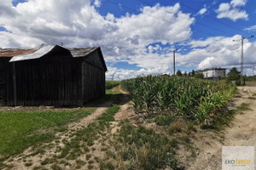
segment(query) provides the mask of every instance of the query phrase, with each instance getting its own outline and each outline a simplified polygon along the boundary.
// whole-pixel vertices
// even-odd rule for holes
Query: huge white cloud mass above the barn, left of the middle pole
[[[170,73],[171,49],[160,46],[188,40],[195,20],[181,11],[179,3],[145,6],[138,14],[119,18],[99,14],[96,8],[100,5],[100,0],[28,0],[14,7],[8,0],[4,7],[9,11],[0,12],[0,25],[12,33],[0,31],[0,46],[35,48],[41,43],[61,42],[67,47],[101,46],[105,60],[112,65],[122,61],[142,68],[130,71],[109,67],[107,77],[113,72],[119,79]]]

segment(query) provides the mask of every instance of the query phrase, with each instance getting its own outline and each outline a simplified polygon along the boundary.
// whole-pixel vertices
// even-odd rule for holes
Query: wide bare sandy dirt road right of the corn
[[[200,139],[194,139],[199,149],[198,156],[189,162],[188,169],[221,169],[222,146],[254,146],[256,148],[256,87],[239,87],[239,96],[235,106],[246,103],[252,111],[236,114],[230,127],[221,133],[206,132]]]

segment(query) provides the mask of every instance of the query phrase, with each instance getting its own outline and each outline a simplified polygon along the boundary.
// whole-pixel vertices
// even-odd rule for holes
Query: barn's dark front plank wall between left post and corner
[[[82,105],[81,59],[16,62],[17,105]]]

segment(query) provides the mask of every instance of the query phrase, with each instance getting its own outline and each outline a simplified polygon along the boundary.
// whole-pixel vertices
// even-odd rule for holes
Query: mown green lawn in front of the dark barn
[[[88,116],[94,108],[77,111],[0,112],[0,155],[3,159],[19,154],[34,144],[54,139],[54,128]],[[57,128],[58,129],[58,128]]]

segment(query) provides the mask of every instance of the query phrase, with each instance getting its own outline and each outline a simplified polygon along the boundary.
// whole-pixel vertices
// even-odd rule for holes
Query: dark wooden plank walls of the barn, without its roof
[[[5,76],[0,74],[6,79],[3,105],[15,105],[13,62],[6,58],[5,65]],[[45,56],[17,61],[15,72],[17,105],[83,105],[105,94],[105,71],[86,57]],[[4,94],[1,89],[0,93]]]

